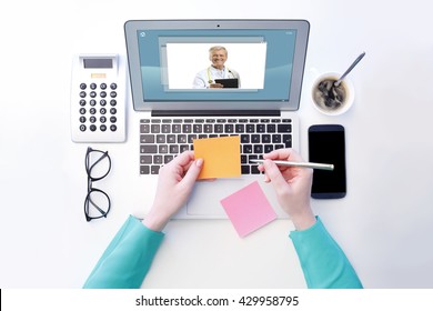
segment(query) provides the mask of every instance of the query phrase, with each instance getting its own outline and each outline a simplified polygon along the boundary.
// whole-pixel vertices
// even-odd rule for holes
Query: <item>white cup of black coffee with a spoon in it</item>
[[[333,83],[341,74],[328,72],[315,79],[311,89],[314,107],[326,116],[339,116],[346,112],[355,99],[354,87],[350,79],[344,78],[339,87]]]

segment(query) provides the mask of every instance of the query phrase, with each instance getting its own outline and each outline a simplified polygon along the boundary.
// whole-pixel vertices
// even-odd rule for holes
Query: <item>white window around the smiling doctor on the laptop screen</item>
[[[177,40],[179,41],[179,38]],[[162,69],[165,71],[163,84],[167,91],[198,89],[194,79],[212,81],[219,79],[216,82],[221,83],[236,80],[236,84],[233,87],[225,89],[204,88],[208,91],[260,90],[264,88],[266,42],[263,42],[263,38],[256,38],[254,41],[258,42],[212,40],[215,39],[205,38],[200,40],[207,42],[170,42],[170,39],[167,40],[168,42],[161,47],[161,54],[164,56],[161,58]],[[249,38],[249,41],[251,41],[251,38]],[[214,77],[213,71],[211,71],[210,49],[212,47],[223,47],[228,52],[224,62],[225,69],[221,77]]]

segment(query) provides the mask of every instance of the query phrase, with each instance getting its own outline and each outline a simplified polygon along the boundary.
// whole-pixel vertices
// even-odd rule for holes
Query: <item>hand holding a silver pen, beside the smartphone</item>
[[[279,149],[263,154],[264,160],[302,162],[293,149]],[[299,167],[278,167],[272,161],[259,165],[265,173],[265,182],[272,182],[281,208],[290,215],[296,230],[304,230],[315,223],[310,207],[313,170]]]

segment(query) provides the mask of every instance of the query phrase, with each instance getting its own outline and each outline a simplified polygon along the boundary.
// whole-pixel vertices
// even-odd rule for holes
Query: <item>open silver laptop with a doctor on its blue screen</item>
[[[142,178],[157,181],[159,168],[192,149],[194,139],[241,137],[242,175],[197,182],[175,219],[225,219],[220,201],[254,181],[276,215],[288,218],[249,160],[279,148],[299,150],[309,32],[305,20],[125,22]],[[215,89],[216,79],[239,79],[239,86]]]

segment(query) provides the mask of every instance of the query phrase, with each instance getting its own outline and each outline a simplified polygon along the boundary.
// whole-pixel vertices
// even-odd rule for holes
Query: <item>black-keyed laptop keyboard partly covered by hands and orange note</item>
[[[150,118],[140,120],[140,174],[158,174],[193,140],[239,136],[242,174],[259,174],[252,159],[292,147],[292,120],[283,118]]]

